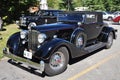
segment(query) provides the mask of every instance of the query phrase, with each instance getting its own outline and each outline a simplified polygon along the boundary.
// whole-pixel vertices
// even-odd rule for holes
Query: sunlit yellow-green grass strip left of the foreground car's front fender
[[[20,31],[16,24],[10,24],[10,25],[4,26],[3,28],[4,30],[0,31],[0,34],[1,34],[0,36],[3,38],[2,40],[0,40],[0,59],[3,58],[2,50],[4,47],[6,47],[6,42],[10,37],[10,35]]]

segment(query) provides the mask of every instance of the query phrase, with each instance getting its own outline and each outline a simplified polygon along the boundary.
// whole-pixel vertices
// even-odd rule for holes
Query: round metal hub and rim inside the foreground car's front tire
[[[50,67],[54,70],[61,69],[64,65],[65,57],[62,52],[56,52],[50,60]]]

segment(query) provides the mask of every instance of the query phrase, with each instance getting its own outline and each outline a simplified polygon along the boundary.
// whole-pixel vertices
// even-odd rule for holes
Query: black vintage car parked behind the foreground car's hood
[[[61,10],[39,10],[29,15],[22,14],[17,24],[22,29],[28,29],[41,24],[50,24],[57,22],[57,14],[62,12]]]

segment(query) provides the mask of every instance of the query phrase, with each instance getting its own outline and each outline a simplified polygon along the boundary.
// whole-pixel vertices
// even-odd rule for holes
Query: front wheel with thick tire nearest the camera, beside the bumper
[[[54,76],[64,72],[69,61],[69,54],[66,47],[61,47],[54,51],[50,56],[50,60],[45,64],[45,74]]]

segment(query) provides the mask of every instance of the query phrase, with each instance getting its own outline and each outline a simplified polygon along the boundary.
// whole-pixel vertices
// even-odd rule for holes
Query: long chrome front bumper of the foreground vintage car
[[[22,58],[22,57],[19,57],[19,56],[16,56],[12,53],[10,53],[7,48],[4,48],[3,49],[3,53],[6,57],[9,57],[17,62],[21,62],[23,64],[26,64],[27,66],[29,67],[32,67],[32,68],[35,68],[35,69],[38,69],[41,71],[41,73],[44,71],[44,68],[45,68],[45,63],[43,60],[40,61],[40,63],[36,63],[36,62],[33,62],[33,61],[30,61],[29,59],[25,59],[25,58]]]

